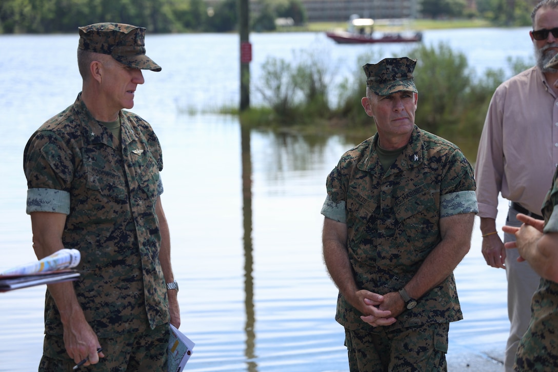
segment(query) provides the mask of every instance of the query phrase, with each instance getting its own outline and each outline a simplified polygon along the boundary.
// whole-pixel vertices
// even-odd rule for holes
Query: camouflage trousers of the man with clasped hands
[[[345,328],[350,372],[447,371],[449,323],[386,332]]]

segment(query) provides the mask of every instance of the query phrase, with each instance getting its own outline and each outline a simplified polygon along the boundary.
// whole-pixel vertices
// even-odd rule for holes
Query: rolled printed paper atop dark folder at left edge
[[[0,292],[76,280],[81,255],[76,249],[61,249],[39,261],[16,266],[0,273]]]

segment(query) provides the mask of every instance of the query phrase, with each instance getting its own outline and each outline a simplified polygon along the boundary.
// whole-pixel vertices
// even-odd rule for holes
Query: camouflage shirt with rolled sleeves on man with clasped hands
[[[415,126],[408,146],[384,172],[377,141],[376,134],[341,157],[328,176],[322,213],[347,223],[357,287],[385,294],[403,288],[440,242],[440,218],[476,213],[477,203],[472,166],[455,145]],[[336,320],[348,330],[375,332],[361,315],[339,293]],[[391,332],[462,318],[452,274],[381,328]],[[445,341],[447,348],[447,336]],[[406,347],[411,350],[413,341]]]

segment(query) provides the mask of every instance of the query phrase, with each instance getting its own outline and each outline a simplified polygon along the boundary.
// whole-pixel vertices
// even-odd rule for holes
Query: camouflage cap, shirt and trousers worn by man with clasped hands
[[[416,93],[414,66],[415,61],[408,58],[367,64],[363,68],[368,89],[383,97]],[[398,291],[411,282],[442,241],[440,220],[477,212],[475,182],[472,166],[458,147],[416,125],[408,144],[392,154],[391,165],[378,154],[379,136],[376,133],[345,152],[329,174],[321,211],[326,217],[324,237],[330,226],[346,230],[343,249],[356,289],[400,296]],[[338,224],[331,225],[330,220]],[[473,218],[468,223],[465,231],[470,240]],[[343,261],[326,245],[324,239],[326,264],[328,256],[330,262]],[[463,245],[468,250],[469,243]],[[330,265],[331,273],[335,270]],[[332,278],[336,281],[333,273]],[[336,284],[340,292],[335,318],[346,330],[351,371],[446,369],[448,323],[463,318],[453,274],[422,294],[416,306],[398,314],[395,322],[379,327],[363,321],[361,316],[367,314],[349,303],[341,293],[342,283]],[[432,356],[436,354],[432,349],[438,356]]]

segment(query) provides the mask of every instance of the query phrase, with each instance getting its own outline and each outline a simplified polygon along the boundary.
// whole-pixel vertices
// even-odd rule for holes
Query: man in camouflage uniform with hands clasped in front
[[[477,212],[473,167],[415,124],[415,65],[363,66],[377,133],[326,180],[323,256],[351,372],[445,371],[449,323],[463,318],[453,270]]]

